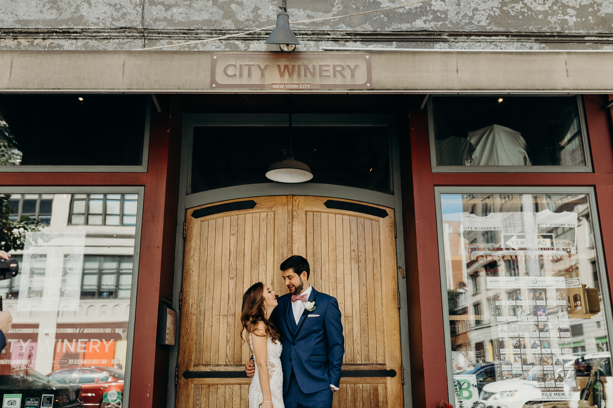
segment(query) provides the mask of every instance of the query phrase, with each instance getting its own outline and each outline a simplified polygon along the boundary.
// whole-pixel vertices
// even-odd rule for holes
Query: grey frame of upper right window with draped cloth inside
[[[428,110],[428,137],[430,140],[430,165],[432,173],[592,173],[592,155],[589,137],[587,131],[587,119],[585,116],[584,100],[581,94],[574,94],[577,101],[577,108],[579,110],[579,126],[581,127],[581,140],[583,146],[583,154],[585,159],[585,165],[583,166],[558,166],[558,165],[536,165],[536,166],[446,166],[436,164],[436,145],[434,134],[434,111],[433,111],[433,97],[496,97],[499,94],[440,94],[433,95],[428,98],[427,110]],[[560,97],[563,95],[550,95],[550,94],[500,94],[504,97]]]

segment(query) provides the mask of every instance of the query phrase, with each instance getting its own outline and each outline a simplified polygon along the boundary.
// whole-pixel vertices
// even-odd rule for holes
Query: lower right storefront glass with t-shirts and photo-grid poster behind
[[[590,193],[470,190],[438,203],[454,406],[577,406],[593,372],[611,379]]]

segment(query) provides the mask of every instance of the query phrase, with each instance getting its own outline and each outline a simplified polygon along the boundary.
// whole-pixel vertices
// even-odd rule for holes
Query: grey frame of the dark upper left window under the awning
[[[142,162],[139,165],[0,165],[0,172],[21,173],[21,172],[84,172],[84,173],[107,173],[107,172],[126,172],[126,173],[146,173],[149,161],[149,142],[151,135],[151,96],[147,98],[145,107],[145,137],[143,139]]]

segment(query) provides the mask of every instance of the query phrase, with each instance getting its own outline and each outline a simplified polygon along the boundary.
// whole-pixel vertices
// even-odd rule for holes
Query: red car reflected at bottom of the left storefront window
[[[81,385],[83,407],[110,408],[117,404],[102,403],[104,393],[121,391],[123,400],[123,371],[113,367],[87,366],[60,368],[47,374],[60,383],[78,383]]]

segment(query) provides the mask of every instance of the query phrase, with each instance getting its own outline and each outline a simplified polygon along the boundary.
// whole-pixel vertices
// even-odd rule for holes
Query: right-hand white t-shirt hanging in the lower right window
[[[540,247],[576,248],[577,213],[554,213],[549,209],[536,213],[536,238]]]

